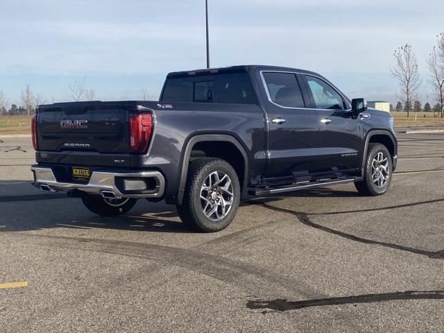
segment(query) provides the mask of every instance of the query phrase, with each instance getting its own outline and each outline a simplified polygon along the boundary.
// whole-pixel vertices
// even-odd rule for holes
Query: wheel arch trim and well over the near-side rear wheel
[[[191,160],[191,152],[193,152],[193,148],[204,148],[205,144],[207,146],[211,146],[214,144],[214,147],[220,146],[221,144],[228,144],[232,146],[232,149],[235,149],[239,154],[239,158],[241,158],[241,163],[237,165],[232,165],[232,167],[237,171],[239,182],[241,186],[241,198],[245,196],[248,182],[248,155],[244,146],[241,145],[238,139],[233,137],[232,135],[225,134],[200,134],[194,135],[191,137],[186,145],[185,153],[182,157],[181,169],[180,169],[180,180],[179,180],[179,189],[178,189],[178,205],[182,204],[183,196],[185,194],[185,185],[187,183],[187,173],[189,168],[189,161]],[[205,149],[205,148],[204,148]],[[205,151],[204,153],[207,153]],[[223,154],[214,153],[208,155],[208,157],[221,157]],[[236,157],[233,157],[236,158]],[[230,160],[228,160],[230,162]],[[240,172],[239,172],[240,171]],[[240,174],[239,174],[240,173]]]

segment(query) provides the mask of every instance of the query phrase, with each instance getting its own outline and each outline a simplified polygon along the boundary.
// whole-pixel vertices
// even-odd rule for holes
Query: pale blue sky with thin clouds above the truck
[[[441,0],[209,0],[211,66],[311,69],[345,94],[394,102],[393,51],[408,42],[420,63],[444,32]],[[0,0],[0,89],[19,102],[31,85],[69,99],[85,77],[97,99],[157,99],[169,71],[205,67],[204,0]]]

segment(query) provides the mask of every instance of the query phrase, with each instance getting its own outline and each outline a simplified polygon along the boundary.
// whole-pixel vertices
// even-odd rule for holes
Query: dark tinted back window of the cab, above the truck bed
[[[256,104],[247,73],[167,78],[161,101]]]

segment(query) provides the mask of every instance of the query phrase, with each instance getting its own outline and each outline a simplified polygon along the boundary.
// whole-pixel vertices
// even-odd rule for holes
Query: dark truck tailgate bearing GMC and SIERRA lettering
[[[56,103],[37,112],[40,151],[128,153],[128,114],[118,103]]]

